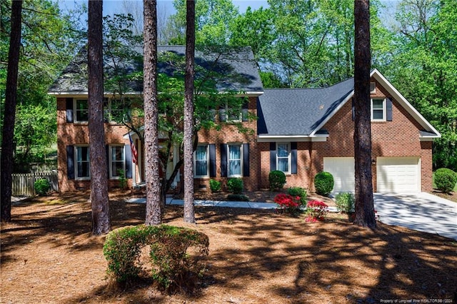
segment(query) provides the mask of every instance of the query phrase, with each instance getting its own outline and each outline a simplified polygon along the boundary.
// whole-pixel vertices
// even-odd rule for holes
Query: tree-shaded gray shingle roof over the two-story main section
[[[131,51],[138,54],[141,59],[142,46],[132,46]],[[159,46],[159,53],[170,51],[179,56],[184,56],[185,46]],[[256,61],[250,47],[230,47],[218,49],[199,49],[195,52],[195,64],[206,71],[211,71],[216,76],[216,89],[218,91],[236,92],[262,92],[263,86],[258,74]],[[110,61],[104,64],[110,66]],[[166,63],[159,63],[159,72],[171,74],[174,68]],[[142,62],[131,61],[126,64],[125,71],[141,71]],[[105,72],[108,69],[105,69]],[[199,75],[196,75],[196,78]],[[49,88],[49,93],[86,94],[87,89],[87,50],[81,49],[71,63],[64,69],[61,76]],[[143,82],[131,81],[126,91],[143,91]]]

